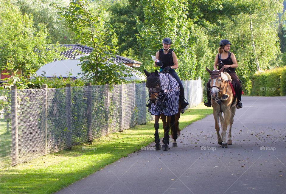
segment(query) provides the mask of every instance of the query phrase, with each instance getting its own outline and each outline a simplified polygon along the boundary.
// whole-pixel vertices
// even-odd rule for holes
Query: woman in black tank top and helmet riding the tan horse
[[[220,47],[217,49],[218,54],[215,56],[215,64],[214,69],[220,70],[222,67],[227,69],[227,72],[231,76],[232,81],[235,83],[235,93],[237,96],[237,104],[236,108],[242,108],[241,103],[241,92],[242,86],[238,76],[235,73],[235,68],[238,67],[237,60],[232,52],[229,52],[230,49],[230,41],[227,39],[222,39],[220,41]],[[211,97],[210,97],[210,81],[208,81],[207,85],[207,102],[204,105],[208,107],[212,107]]]

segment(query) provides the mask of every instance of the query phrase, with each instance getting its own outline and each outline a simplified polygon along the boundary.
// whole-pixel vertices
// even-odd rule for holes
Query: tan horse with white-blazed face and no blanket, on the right
[[[227,144],[231,145],[231,127],[233,124],[233,117],[236,110],[236,97],[233,95],[230,81],[231,77],[228,73],[223,72],[223,69],[209,70],[212,108],[214,109],[215,130],[217,131],[217,142],[222,145],[222,148],[227,148]],[[223,112],[223,116],[222,116]],[[220,134],[220,125],[222,131]],[[226,142],[226,130],[229,126],[229,136]]]

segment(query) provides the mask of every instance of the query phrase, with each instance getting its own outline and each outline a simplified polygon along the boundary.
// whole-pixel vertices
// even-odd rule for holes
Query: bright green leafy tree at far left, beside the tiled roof
[[[15,5],[1,0],[0,18],[1,69],[18,69],[28,76],[43,64],[60,58],[52,45],[46,49],[50,43],[49,34],[43,25],[39,25],[38,30],[33,27],[31,15],[22,15]]]

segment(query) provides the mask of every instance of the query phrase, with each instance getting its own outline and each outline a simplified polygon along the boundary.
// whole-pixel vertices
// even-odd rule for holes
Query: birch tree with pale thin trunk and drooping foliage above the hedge
[[[227,20],[226,32],[232,40],[232,49],[239,63],[238,75],[246,90],[252,87],[252,76],[260,69],[278,66],[281,51],[277,27],[278,13],[282,12],[282,1],[250,1],[253,9]],[[265,14],[267,13],[267,14]]]

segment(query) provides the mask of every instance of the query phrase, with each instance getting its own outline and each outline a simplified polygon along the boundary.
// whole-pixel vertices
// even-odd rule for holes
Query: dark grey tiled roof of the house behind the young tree
[[[71,47],[71,49],[69,49],[65,52],[61,52],[62,55],[64,55],[65,57],[67,57],[69,59],[75,59],[77,55],[89,54],[93,50],[92,47],[84,46],[81,44],[61,44],[60,46]],[[76,53],[75,52],[76,50],[80,51],[81,53]],[[136,60],[129,59],[126,57],[122,57],[120,55],[116,55],[115,62],[117,62],[117,63],[135,63],[138,65],[142,64],[140,61],[136,61]]]

